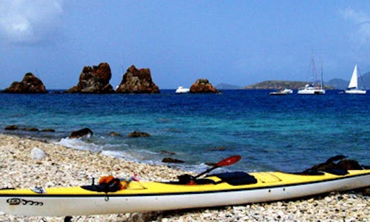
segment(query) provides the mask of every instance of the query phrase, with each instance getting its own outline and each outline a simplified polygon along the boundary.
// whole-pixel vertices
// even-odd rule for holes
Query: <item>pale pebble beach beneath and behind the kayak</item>
[[[34,158],[42,149],[44,158]],[[140,180],[174,180],[184,173],[164,165],[129,162],[93,151],[0,134],[0,188],[81,186],[103,175]],[[191,172],[187,172],[191,173]],[[0,221],[63,221],[64,217],[20,217],[0,214]],[[72,221],[370,221],[367,190],[317,197],[219,208],[136,212],[73,217]]]

